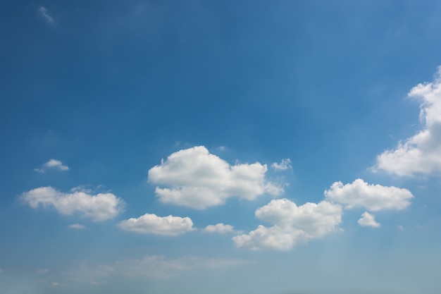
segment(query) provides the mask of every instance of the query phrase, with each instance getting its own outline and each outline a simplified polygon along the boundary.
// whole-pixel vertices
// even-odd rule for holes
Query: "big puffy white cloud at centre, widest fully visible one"
[[[254,200],[263,193],[280,195],[283,188],[266,180],[266,164],[235,164],[210,154],[204,146],[182,149],[149,170],[149,182],[164,203],[206,209],[237,196]]]

